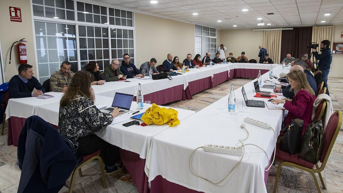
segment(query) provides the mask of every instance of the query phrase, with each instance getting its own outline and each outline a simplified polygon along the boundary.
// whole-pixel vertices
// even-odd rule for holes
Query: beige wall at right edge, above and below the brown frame
[[[343,42],[341,32],[343,32],[343,25],[335,25],[334,42]],[[329,77],[343,78],[343,54],[332,54]]]

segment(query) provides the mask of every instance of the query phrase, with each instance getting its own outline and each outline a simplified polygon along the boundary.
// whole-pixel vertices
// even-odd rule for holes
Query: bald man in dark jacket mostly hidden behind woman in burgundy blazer
[[[298,60],[299,61],[299,60]],[[301,60],[303,61],[303,60]],[[301,71],[304,71],[303,67],[301,67],[300,65],[296,65],[294,64],[294,66],[289,69],[290,72],[292,72],[293,70],[301,70]],[[306,79],[307,81],[309,82],[311,88],[314,86],[313,91],[315,91],[315,94],[317,95],[317,88],[316,88],[316,82],[312,79],[312,77],[309,77],[308,75],[306,75]],[[284,97],[286,97],[287,99],[293,99],[295,93],[293,92],[293,90],[291,90],[291,84],[288,84],[288,86],[277,86],[273,92],[275,93],[282,93],[282,95]]]

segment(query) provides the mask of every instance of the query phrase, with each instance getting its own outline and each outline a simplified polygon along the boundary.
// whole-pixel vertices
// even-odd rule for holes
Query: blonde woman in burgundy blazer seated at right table
[[[312,105],[316,95],[307,82],[304,71],[293,70],[287,74],[287,79],[295,93],[293,100],[274,99],[272,102],[274,104],[284,103],[283,107],[288,110],[288,114],[285,117],[285,125],[292,123],[296,118],[303,120],[304,134],[306,126],[311,123]]]

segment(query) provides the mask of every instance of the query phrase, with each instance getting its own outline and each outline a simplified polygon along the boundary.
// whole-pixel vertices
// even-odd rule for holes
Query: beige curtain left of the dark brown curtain
[[[267,53],[274,63],[279,63],[280,61],[281,35],[281,30],[263,32],[263,47],[267,49]]]

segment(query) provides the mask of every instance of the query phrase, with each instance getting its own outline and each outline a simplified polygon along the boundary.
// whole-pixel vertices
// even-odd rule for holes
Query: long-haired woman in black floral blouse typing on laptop
[[[95,106],[93,80],[92,74],[86,70],[74,74],[60,101],[58,131],[79,142],[79,156],[101,149],[100,156],[104,160],[106,173],[110,174],[123,168],[119,148],[92,133],[104,130],[121,113],[118,108],[111,114],[99,111]]]

